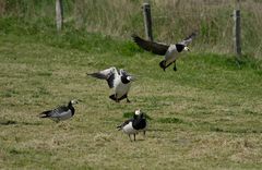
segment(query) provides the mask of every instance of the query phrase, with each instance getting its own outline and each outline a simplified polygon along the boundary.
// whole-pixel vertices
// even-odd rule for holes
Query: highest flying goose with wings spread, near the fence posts
[[[163,42],[145,40],[138,35],[132,35],[134,42],[141,48],[155,54],[165,56],[165,59],[159,62],[159,66],[164,71],[172,63],[174,71],[177,71],[176,60],[179,58],[179,53],[182,51],[189,51],[188,45],[193,40],[196,34],[192,33],[180,42],[177,42],[175,45],[167,45]]]

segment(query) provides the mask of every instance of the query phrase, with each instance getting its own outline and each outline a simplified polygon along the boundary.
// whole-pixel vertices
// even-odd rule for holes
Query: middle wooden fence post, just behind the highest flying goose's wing
[[[146,38],[148,40],[153,41],[151,5],[150,5],[150,3],[143,3],[143,14],[144,14],[144,27],[145,27]]]

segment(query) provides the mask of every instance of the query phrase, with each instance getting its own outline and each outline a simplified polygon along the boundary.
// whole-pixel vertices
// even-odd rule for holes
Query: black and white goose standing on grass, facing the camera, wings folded
[[[145,135],[146,131],[146,119],[143,114],[143,112],[139,109],[135,110],[133,118],[124,121],[122,124],[118,125],[117,129],[120,131],[122,130],[123,133],[129,135],[130,141],[132,142],[131,135],[134,136],[143,131]]]

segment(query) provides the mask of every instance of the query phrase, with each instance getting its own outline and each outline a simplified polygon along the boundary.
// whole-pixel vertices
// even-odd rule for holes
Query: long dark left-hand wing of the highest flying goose
[[[132,38],[134,42],[139,45],[141,48],[145,49],[146,51],[153,52],[155,54],[164,56],[166,54],[166,51],[169,48],[169,45],[145,40],[134,34],[132,35]]]

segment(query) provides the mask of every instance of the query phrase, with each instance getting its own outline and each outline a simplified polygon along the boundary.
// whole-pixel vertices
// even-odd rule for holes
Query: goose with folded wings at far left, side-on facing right
[[[60,106],[53,110],[47,110],[40,113],[40,118],[49,118],[56,122],[70,119],[74,116],[73,105],[78,104],[78,100],[70,100],[68,106]]]

